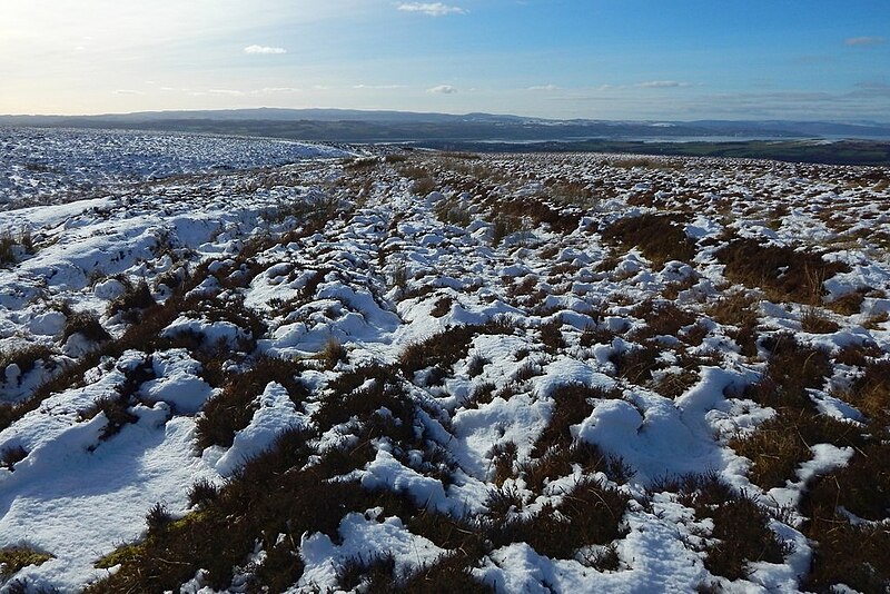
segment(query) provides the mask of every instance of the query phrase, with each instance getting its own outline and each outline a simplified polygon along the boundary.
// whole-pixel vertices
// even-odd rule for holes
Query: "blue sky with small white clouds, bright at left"
[[[890,0],[0,0],[0,113],[890,122]]]

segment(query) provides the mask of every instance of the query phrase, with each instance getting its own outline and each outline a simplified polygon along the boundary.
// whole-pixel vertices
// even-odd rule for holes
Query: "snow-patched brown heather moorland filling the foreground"
[[[887,170],[134,167],[0,214],[7,584],[890,584]]]

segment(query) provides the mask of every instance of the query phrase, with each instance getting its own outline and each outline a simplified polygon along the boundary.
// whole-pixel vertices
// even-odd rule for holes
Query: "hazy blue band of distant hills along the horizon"
[[[0,125],[132,128],[270,136],[340,142],[548,141],[585,139],[857,138],[890,140],[890,123],[827,121],[553,120],[492,113],[418,113],[353,109],[225,109],[102,116],[0,116]]]

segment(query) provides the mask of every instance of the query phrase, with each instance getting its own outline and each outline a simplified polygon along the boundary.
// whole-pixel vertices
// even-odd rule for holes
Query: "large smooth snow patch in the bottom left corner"
[[[136,539],[149,507],[160,502],[181,513],[191,483],[215,476],[191,455],[192,420],[166,420],[164,404],[136,413],[137,424],[93,452],[102,417],[65,432],[0,478],[0,546],[27,541],[56,557],[19,578],[76,590],[101,577],[96,560]]]

